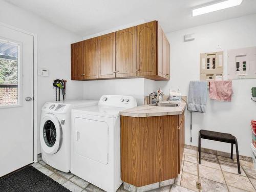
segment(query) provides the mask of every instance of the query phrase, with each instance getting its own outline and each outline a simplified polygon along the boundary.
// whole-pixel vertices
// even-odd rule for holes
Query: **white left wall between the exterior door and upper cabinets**
[[[30,12],[0,0],[0,22],[37,35],[38,67],[47,68],[49,77],[38,77],[38,131],[41,107],[46,101],[55,100],[53,79],[67,79],[67,99],[83,98],[82,82],[71,81],[70,77],[70,44],[82,37],[57,27]],[[39,132],[38,132],[39,133]],[[39,138],[39,137],[38,137]],[[40,144],[38,139],[38,153]]]

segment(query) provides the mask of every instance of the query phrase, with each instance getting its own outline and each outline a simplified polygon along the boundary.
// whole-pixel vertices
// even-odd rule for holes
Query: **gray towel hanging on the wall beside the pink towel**
[[[189,111],[197,111],[205,113],[207,102],[207,82],[206,81],[190,81],[188,91]]]

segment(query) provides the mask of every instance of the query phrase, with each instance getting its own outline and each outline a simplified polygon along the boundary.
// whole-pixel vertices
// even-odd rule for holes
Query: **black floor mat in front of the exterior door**
[[[71,192],[33,166],[0,179],[1,192]]]

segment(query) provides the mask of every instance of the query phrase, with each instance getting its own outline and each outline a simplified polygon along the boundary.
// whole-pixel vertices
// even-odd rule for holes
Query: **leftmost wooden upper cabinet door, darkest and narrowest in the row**
[[[71,79],[82,80],[83,73],[83,42],[71,44]]]

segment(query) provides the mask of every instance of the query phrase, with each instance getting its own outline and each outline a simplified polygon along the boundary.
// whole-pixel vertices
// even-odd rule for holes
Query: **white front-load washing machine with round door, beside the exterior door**
[[[77,99],[46,102],[42,106],[39,131],[42,160],[62,172],[70,172],[71,110],[97,104],[97,100]]]

